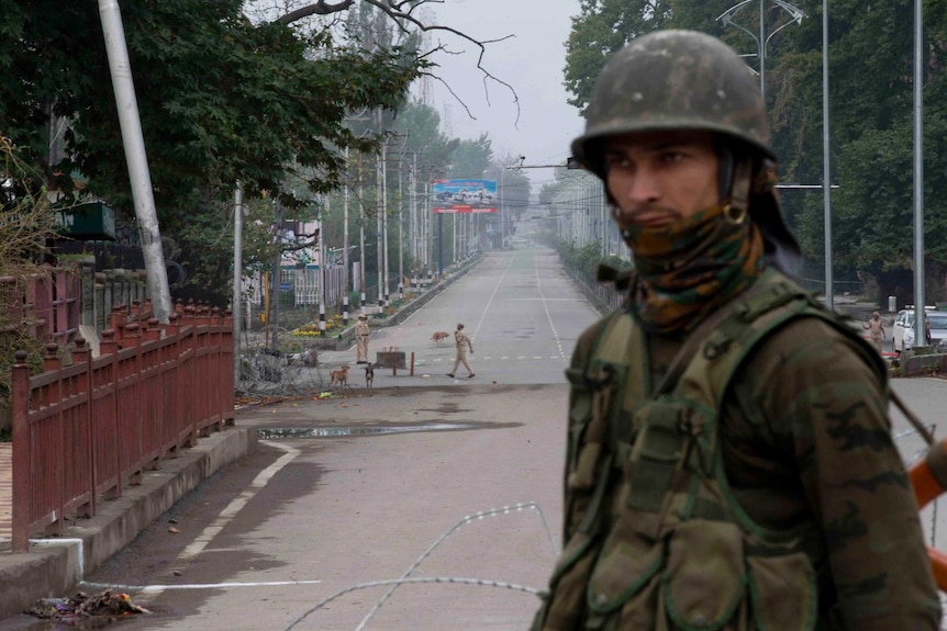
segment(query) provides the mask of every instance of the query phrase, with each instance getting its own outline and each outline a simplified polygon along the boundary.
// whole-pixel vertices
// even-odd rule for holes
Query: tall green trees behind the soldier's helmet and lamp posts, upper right
[[[767,45],[766,102],[781,179],[823,180],[822,2],[792,2],[801,24],[781,30]],[[671,5],[672,4],[672,10]],[[625,42],[660,27],[697,29],[722,36],[759,69],[757,45],[747,33],[715,21],[729,0],[664,2],[583,0],[568,44],[566,84],[572,104],[584,108],[604,58]],[[913,2],[829,3],[829,116],[834,267],[877,278],[880,296],[912,302],[913,267]],[[787,14],[766,2],[767,32]],[[924,241],[927,296],[947,298],[947,4],[924,7]],[[758,3],[735,18],[755,33]],[[557,185],[565,185],[558,184]],[[541,193],[552,199],[555,188]],[[783,191],[783,211],[812,269],[824,257],[821,191]],[[817,263],[817,264],[816,264]],[[823,266],[824,269],[824,266]],[[907,286],[905,280],[909,279]]]

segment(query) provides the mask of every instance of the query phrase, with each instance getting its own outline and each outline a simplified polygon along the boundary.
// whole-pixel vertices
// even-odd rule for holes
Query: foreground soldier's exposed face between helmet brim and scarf
[[[605,185],[620,227],[662,227],[720,203],[710,132],[640,132],[605,140]]]

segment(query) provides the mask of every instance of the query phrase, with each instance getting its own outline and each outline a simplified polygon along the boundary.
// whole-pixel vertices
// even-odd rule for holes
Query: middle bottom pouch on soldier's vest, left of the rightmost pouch
[[[734,620],[740,618],[737,609],[746,595],[739,527],[705,519],[677,526],[668,542],[662,593],[670,629],[742,628],[742,622]],[[778,629],[789,631],[788,627]]]

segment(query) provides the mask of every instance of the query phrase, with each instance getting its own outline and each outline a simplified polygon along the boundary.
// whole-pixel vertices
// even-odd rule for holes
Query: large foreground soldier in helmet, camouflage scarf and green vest
[[[533,629],[935,631],[887,371],[790,273],[759,88],[718,40],[636,37],[573,155],[634,255],[580,337],[564,550]]]

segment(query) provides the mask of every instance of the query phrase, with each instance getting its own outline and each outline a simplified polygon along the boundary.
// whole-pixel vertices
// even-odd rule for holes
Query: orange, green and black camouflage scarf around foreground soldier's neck
[[[762,273],[762,237],[715,206],[670,226],[623,230],[635,259],[631,309],[645,330],[693,330]]]

